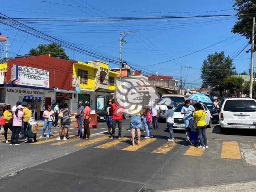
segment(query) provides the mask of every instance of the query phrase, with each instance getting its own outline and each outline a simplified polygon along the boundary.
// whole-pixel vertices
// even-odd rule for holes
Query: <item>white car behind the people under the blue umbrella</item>
[[[193,105],[193,104],[191,104]],[[201,103],[201,105],[203,106],[203,110],[206,111],[206,117],[205,117],[205,121],[206,121],[206,126],[208,128],[211,127],[211,112],[209,111],[209,109],[207,109],[206,105],[204,105],[203,103]],[[173,124],[173,129],[176,130],[185,130],[185,123],[184,123],[184,115],[181,115],[181,108],[184,106],[184,104],[179,104],[177,108],[174,109],[174,124]]]

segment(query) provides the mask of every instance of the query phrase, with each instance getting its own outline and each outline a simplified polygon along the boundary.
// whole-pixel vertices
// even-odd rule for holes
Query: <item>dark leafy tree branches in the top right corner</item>
[[[245,36],[250,39],[252,34],[252,17],[254,15],[244,15],[244,14],[255,14],[256,13],[256,1],[255,0],[235,0],[233,5],[234,9],[238,11],[237,19],[238,21],[232,28],[231,32]],[[254,51],[256,51],[254,49]]]

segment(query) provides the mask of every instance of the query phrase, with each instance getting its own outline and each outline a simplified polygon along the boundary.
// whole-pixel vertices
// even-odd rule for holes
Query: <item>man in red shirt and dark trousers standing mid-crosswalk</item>
[[[111,111],[112,111],[112,134],[110,139],[114,139],[115,136],[115,128],[116,124],[118,124],[118,139],[121,139],[121,134],[122,134],[122,123],[123,123],[123,113],[119,113],[118,115],[116,114],[116,109],[117,109],[117,104],[115,103],[114,99],[109,101],[108,103],[111,106]]]

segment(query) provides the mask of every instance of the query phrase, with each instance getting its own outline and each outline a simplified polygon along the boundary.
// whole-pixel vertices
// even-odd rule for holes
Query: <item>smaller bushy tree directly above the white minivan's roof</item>
[[[223,80],[224,89],[229,90],[230,93],[234,93],[236,89],[242,89],[243,79],[242,77],[229,76]]]

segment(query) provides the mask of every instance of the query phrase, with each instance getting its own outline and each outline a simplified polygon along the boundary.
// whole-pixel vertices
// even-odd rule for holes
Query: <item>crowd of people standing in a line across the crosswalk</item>
[[[59,104],[57,104],[53,110],[52,106],[48,105],[47,110],[43,112],[42,117],[44,118],[44,125],[41,131],[39,138],[43,138],[45,135],[46,128],[47,134],[46,137],[50,137],[50,132],[52,125],[58,127],[58,119],[60,121],[60,130],[59,135],[56,140],[61,140],[61,135],[64,130],[63,140],[67,140],[68,129],[70,127],[71,119],[70,117],[75,116],[76,118],[76,128],[78,128],[78,134],[75,137],[76,139],[90,139],[90,112],[89,102],[79,101],[79,109],[76,113],[72,113],[68,108],[66,103],[63,103],[61,109]],[[109,99],[106,113],[106,123],[108,127],[108,134],[110,134],[110,139],[115,137],[115,129],[118,126],[118,139],[122,139],[122,112],[117,113],[118,105],[115,103],[114,99]],[[165,111],[167,130],[170,134],[168,141],[175,141],[173,124],[174,124],[174,106],[167,106],[168,110]],[[21,105],[21,102],[17,102],[15,106],[11,108],[10,105],[5,105],[2,110],[2,118],[4,118],[5,123],[4,127],[4,136],[5,142],[9,143],[7,140],[8,129],[11,130],[11,142],[9,145],[19,145],[19,136],[21,139],[25,139],[25,142],[35,142],[36,134],[38,132],[38,125],[35,119],[32,117],[31,104],[27,103],[25,106]],[[140,145],[141,130],[143,123],[143,132],[146,133],[144,136],[145,139],[153,137],[150,123],[153,125],[153,129],[158,130],[159,124],[157,117],[159,116],[159,106],[156,105],[154,108],[143,108],[141,112],[133,114],[130,116],[130,126],[127,129],[131,131],[131,140],[132,145],[135,145],[135,140],[137,139],[137,145]],[[190,105],[190,101],[186,100],[184,106],[181,109],[181,114],[184,115],[184,124],[186,127],[186,139],[195,147],[205,149],[208,148],[207,136],[206,136],[206,122],[204,120],[206,112],[203,110],[200,103]],[[82,135],[82,130],[84,133]],[[32,139],[32,140],[30,140]]]

